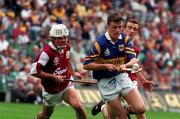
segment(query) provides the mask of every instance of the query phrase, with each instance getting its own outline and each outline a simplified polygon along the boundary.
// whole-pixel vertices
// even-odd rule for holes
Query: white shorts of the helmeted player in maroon
[[[73,80],[72,77],[71,77],[71,80]],[[43,88],[42,89],[43,103],[46,106],[55,106],[58,103],[62,103],[63,94],[67,90],[72,89],[72,88],[74,89],[74,84],[72,82],[69,82],[68,86],[63,91],[56,93],[56,94],[50,94],[50,93],[46,92]]]

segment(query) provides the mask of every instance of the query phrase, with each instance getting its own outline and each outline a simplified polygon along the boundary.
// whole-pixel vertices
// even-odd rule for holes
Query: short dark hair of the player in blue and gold
[[[113,12],[108,16],[107,24],[109,25],[111,22],[123,22],[121,15],[118,12]]]

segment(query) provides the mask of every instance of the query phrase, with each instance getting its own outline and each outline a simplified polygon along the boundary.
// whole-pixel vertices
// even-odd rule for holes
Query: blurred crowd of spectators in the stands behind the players
[[[68,26],[74,68],[92,78],[83,58],[112,10],[139,19],[135,44],[146,78],[180,92],[180,0],[0,0],[0,100],[41,101],[40,80],[29,71],[53,23]]]

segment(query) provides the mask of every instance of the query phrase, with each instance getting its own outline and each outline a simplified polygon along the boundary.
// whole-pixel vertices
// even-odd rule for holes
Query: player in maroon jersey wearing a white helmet
[[[71,65],[69,30],[64,24],[54,24],[49,36],[50,42],[35,58],[31,68],[31,75],[40,78],[43,85],[43,108],[36,119],[49,119],[55,105],[62,100],[74,108],[77,119],[87,119],[74,84],[64,81],[73,80],[73,77],[82,78]]]

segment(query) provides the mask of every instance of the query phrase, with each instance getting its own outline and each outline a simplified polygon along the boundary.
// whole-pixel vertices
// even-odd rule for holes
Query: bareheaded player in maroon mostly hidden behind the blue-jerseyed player
[[[134,36],[137,34],[139,30],[139,24],[138,21],[135,18],[130,18],[126,21],[124,26],[124,33],[126,33],[132,40],[134,39]],[[132,41],[133,43],[133,41]],[[134,51],[136,52],[137,56],[140,52],[140,49],[133,44]],[[127,60],[128,62],[128,60]],[[148,92],[152,91],[153,82],[148,81],[141,72],[138,73],[129,73],[129,77],[131,80],[133,80],[135,83],[137,83],[137,80],[140,81],[140,83],[143,85],[144,89]],[[129,110],[128,106],[125,107],[127,110]],[[109,119],[107,108],[105,105],[105,102],[100,101],[97,105],[95,105],[92,109],[92,115],[96,115],[99,112],[103,113],[104,119]],[[112,112],[111,112],[112,113]],[[137,119],[146,119],[145,114],[136,114]],[[130,117],[128,117],[130,118]]]

